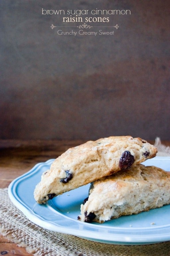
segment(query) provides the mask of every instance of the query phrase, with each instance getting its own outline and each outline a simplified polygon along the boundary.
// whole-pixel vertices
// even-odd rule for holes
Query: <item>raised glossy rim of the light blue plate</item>
[[[163,159],[169,159],[169,156],[156,156],[154,158],[157,158],[159,160],[163,160]],[[152,160],[154,159],[152,158]],[[24,215],[33,223],[35,223],[36,225],[39,225],[42,228],[51,230],[51,231],[55,231],[55,232],[60,232],[60,233],[65,233],[65,234],[70,234],[70,235],[75,235],[87,240],[92,240],[92,241],[97,241],[97,242],[102,242],[102,243],[111,243],[111,244],[122,244],[122,245],[137,245],[137,244],[151,244],[151,243],[159,243],[159,242],[165,242],[165,241],[169,241],[170,240],[170,224],[166,225],[167,227],[165,227],[165,225],[163,225],[162,227],[156,227],[156,226],[152,226],[152,227],[147,227],[147,228],[134,228],[134,227],[129,227],[129,228],[124,228],[124,227],[114,227],[114,230],[119,231],[116,234],[111,234],[108,232],[108,236],[102,236],[101,239],[101,233],[99,231],[95,231],[95,230],[101,230],[101,231],[106,231],[106,227],[100,227],[100,225],[95,225],[92,223],[84,223],[84,222],[80,222],[78,220],[73,220],[72,218],[63,215],[62,213],[60,213],[60,216],[62,216],[67,221],[73,222],[76,226],[79,226],[79,229],[75,229],[75,228],[69,228],[68,227],[63,227],[61,228],[61,226],[56,225],[56,223],[53,223],[49,220],[45,220],[44,217],[40,216],[39,214],[36,214],[33,209],[31,209],[30,207],[28,207],[26,205],[25,202],[23,202],[19,196],[17,195],[16,192],[16,188],[17,185],[19,185],[20,182],[22,182],[22,180],[24,180],[26,177],[30,177],[30,176],[34,176],[35,173],[38,173],[41,171],[41,167],[44,165],[50,165],[55,159],[49,159],[45,162],[40,162],[37,163],[34,167],[31,168],[31,170],[29,170],[28,172],[22,174],[21,176],[17,177],[16,179],[14,179],[9,187],[8,187],[8,195],[10,200],[14,203],[14,205],[19,208],[19,210],[21,210]],[[50,205],[47,203],[46,204],[47,207],[50,207]],[[57,212],[58,214],[58,212]],[[140,231],[150,231],[150,230],[157,230],[160,229],[160,227],[163,230],[167,230],[164,235],[162,235],[160,237],[160,233],[158,234],[147,234],[147,235],[137,235],[135,232],[140,230]],[[84,229],[85,228],[85,229]],[[87,229],[87,230],[86,230]],[[90,229],[90,230],[89,230]],[[125,234],[121,234],[120,231],[127,231],[129,229],[129,231],[134,232],[135,234],[130,234],[130,237],[125,233]],[[112,227],[108,227],[107,226],[107,231],[111,231],[113,230]],[[79,232],[78,232],[79,231]],[[104,232],[105,233],[105,232]],[[149,240],[149,241],[148,241]]]

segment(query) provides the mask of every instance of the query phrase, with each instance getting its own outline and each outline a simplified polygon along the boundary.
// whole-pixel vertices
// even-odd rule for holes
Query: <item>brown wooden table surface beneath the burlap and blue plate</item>
[[[29,171],[35,164],[56,158],[68,148],[84,142],[83,140],[0,140],[0,188],[8,187],[12,180]],[[149,142],[154,143],[154,141]],[[162,141],[162,143],[170,146],[170,141]],[[29,256],[31,254],[1,235],[0,255]]]

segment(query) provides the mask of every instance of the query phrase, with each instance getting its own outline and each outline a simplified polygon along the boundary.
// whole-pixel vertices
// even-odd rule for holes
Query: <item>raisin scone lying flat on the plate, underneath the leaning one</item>
[[[105,222],[170,204],[170,172],[143,164],[91,184],[78,219]]]

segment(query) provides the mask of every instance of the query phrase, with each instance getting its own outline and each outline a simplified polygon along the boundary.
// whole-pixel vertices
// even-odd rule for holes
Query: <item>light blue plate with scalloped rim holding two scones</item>
[[[11,201],[29,220],[48,230],[108,244],[140,245],[170,240],[170,205],[98,224],[77,220],[89,185],[57,196],[45,205],[37,204],[33,195],[35,186],[53,160],[35,165],[9,185]],[[154,157],[143,164],[170,171],[170,157]]]

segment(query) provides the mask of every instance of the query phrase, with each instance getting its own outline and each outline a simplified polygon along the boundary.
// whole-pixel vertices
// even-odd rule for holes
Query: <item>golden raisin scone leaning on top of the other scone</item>
[[[42,174],[34,191],[35,200],[45,203],[54,196],[152,158],[156,152],[147,141],[131,136],[88,141],[70,148]]]

